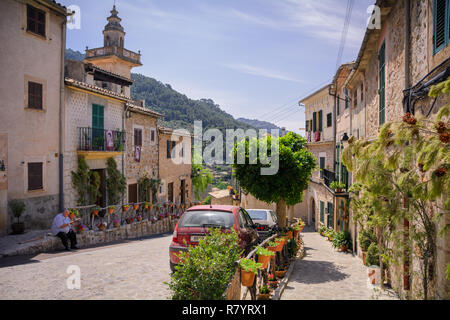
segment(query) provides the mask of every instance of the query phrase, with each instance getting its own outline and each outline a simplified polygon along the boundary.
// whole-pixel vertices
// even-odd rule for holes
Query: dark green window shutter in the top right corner
[[[434,0],[433,3],[433,50],[438,53],[449,43],[449,0]]]

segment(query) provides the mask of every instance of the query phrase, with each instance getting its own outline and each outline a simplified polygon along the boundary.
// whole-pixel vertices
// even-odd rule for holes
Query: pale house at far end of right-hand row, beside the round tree
[[[334,180],[335,113],[330,87],[328,84],[300,101],[305,105],[307,148],[318,163],[303,201],[308,212],[305,222],[316,229],[334,225],[334,194],[330,183]]]

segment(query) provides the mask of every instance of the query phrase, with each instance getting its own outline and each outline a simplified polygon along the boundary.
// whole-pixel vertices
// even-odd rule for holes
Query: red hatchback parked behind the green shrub
[[[175,271],[179,259],[177,253],[196,246],[205,237],[208,228],[234,228],[239,235],[239,245],[250,252],[259,242],[256,225],[245,209],[235,206],[205,205],[189,208],[178,221],[169,246],[170,269]]]

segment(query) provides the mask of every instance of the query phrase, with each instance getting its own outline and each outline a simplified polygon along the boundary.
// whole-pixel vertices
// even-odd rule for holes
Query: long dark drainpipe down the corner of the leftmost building
[[[61,79],[60,79],[60,101],[59,101],[59,211],[64,211],[64,105],[65,105],[65,84],[64,84],[64,61],[66,55],[66,23],[64,16],[61,34]]]

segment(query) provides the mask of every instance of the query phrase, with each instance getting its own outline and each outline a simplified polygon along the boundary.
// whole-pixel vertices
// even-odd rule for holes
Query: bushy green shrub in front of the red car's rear
[[[168,283],[173,300],[224,300],[242,250],[237,232],[210,229],[195,247],[179,255]],[[201,276],[199,276],[201,275]]]

